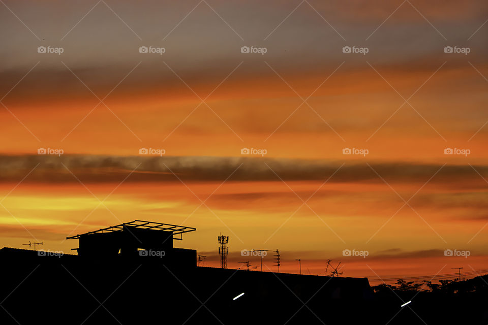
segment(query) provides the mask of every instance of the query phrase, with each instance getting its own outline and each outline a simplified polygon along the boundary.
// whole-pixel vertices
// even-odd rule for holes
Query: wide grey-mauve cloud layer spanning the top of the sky
[[[124,83],[120,84],[119,95],[150,89],[153,92],[164,93],[167,97],[174,95],[175,89],[186,91],[185,86],[167,69],[163,60],[183,80],[196,88],[197,93],[201,93],[199,87],[217,86],[241,61],[245,63],[236,71],[240,82],[243,80],[254,82],[253,80],[269,76],[276,77],[264,64],[262,57],[243,56],[240,53],[240,47],[246,44],[266,46],[268,52],[265,59],[274,69],[281,74],[292,73],[301,78],[310,74],[320,75],[323,78],[344,60],[347,60],[347,64],[341,70],[350,68],[370,70],[363,57],[345,56],[341,50],[345,45],[360,46],[363,43],[364,46],[370,47],[368,60],[379,70],[381,66],[394,66],[391,69],[403,68],[411,72],[416,67],[428,66],[425,70],[430,74],[443,61],[443,59],[439,60],[439,56],[444,55],[443,47],[448,44],[409,3],[403,4],[402,8],[396,11],[368,42],[364,41],[365,38],[401,2],[394,4],[376,0],[365,3],[354,0],[350,2],[310,1],[310,4],[325,19],[328,19],[347,41],[335,34],[334,30],[307,3],[301,4],[300,8],[290,15],[265,42],[263,39],[295,9],[297,3],[271,1],[264,5],[262,2],[251,1],[238,6],[225,2],[211,4],[238,31],[239,35],[242,35],[246,40],[245,43],[204,4],[199,5],[197,10],[185,19],[184,23],[178,25],[164,42],[162,39],[180,20],[177,18],[178,15],[181,15],[181,18],[185,17],[194,5],[181,2],[171,6],[174,12],[169,12],[166,6],[159,2],[145,5],[138,3],[137,8],[131,2],[120,1],[112,4],[113,10],[120,17],[124,17],[124,20],[144,40],[142,42],[124,24],[121,24],[113,12],[104,8],[103,4],[90,12],[59,44],[51,43],[52,39],[40,43],[28,30],[19,26],[19,22],[11,13],[5,12],[6,19],[0,20],[0,26],[6,30],[19,27],[25,34],[13,29],[17,31],[16,37],[6,39],[4,47],[0,49],[0,58],[4,63],[0,67],[3,74],[0,88],[3,93],[9,91],[33,67],[34,62],[40,60],[41,64],[29,73],[18,87],[24,92],[28,91],[31,94],[29,97],[46,96],[47,91],[54,89],[56,92],[48,94],[51,100],[52,98],[69,99],[73,95],[87,95],[88,98],[92,98],[92,94],[60,60],[63,60],[99,96],[108,93],[137,62],[142,63]],[[487,7],[486,2],[480,0],[463,3],[463,6],[459,6],[459,3],[454,0],[449,0],[443,2],[441,10],[434,3],[412,4],[446,35],[450,45],[459,46],[464,44],[484,22],[482,13]],[[12,10],[23,20],[27,19],[25,20],[27,25],[37,26],[34,28],[36,34],[40,35],[42,30],[44,35],[57,35],[58,37],[54,39],[59,40],[73,26],[46,22],[42,17],[62,14],[66,22],[78,21],[79,13],[89,10],[89,7],[83,3],[72,5],[74,7],[68,9],[58,3],[41,4],[27,1],[12,4]],[[139,14],[134,15],[134,12]],[[477,17],[482,17],[482,20]],[[249,21],[253,23],[250,24]],[[473,47],[469,56],[471,62],[475,61],[474,57],[482,59],[486,56],[488,48],[485,39],[486,28],[482,28],[476,37],[470,40],[470,46]],[[147,44],[146,40],[152,41]],[[164,46],[167,51],[162,57],[141,54],[138,49],[143,44]],[[42,56],[36,51],[39,45],[63,46],[65,52],[60,57]],[[452,64],[462,64],[463,67],[472,69],[466,64],[463,56],[444,57],[449,59],[449,64],[443,68],[444,70],[450,69]],[[415,64],[411,64],[412,61]],[[324,69],[325,72],[321,71],[321,67],[327,68]],[[241,71],[242,74],[239,75]],[[226,85],[232,82],[231,78],[226,81]],[[281,80],[279,82],[281,83]],[[238,89],[238,85],[234,88]],[[211,89],[203,93],[209,91]],[[13,91],[7,100],[25,100],[24,92]],[[191,92],[189,94],[193,96]]]

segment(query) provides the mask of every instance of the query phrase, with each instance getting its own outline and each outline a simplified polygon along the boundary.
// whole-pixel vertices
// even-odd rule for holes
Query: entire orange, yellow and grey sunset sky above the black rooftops
[[[488,4],[440,4],[2,2],[0,246],[140,219],[205,266],[488,269]]]

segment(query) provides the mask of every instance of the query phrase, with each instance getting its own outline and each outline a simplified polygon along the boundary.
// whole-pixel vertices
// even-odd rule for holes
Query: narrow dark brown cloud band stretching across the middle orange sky
[[[426,182],[441,167],[435,164],[374,163],[370,166],[388,183]],[[26,182],[120,182],[134,173],[127,182],[164,181],[325,181],[382,182],[364,162],[212,157],[212,156],[108,156],[108,155],[2,155],[2,181]],[[488,166],[473,166],[481,175],[488,175]],[[339,171],[338,171],[339,169]],[[72,173],[76,176],[73,176]],[[177,177],[176,177],[176,176]],[[470,166],[447,165],[431,180],[434,183],[479,181],[481,178]]]

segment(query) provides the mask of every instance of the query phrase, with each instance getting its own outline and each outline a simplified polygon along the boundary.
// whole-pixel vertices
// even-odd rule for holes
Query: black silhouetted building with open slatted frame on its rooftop
[[[0,324],[248,324],[238,315],[253,310],[259,323],[386,323],[400,308],[388,298],[385,314],[367,278],[197,267],[196,250],[173,247],[195,230],[134,220],[68,237],[77,255],[2,248]]]

